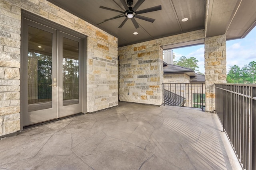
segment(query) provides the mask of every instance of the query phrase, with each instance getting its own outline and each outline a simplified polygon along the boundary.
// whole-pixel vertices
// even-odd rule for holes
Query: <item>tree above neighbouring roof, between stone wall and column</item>
[[[174,65],[191,68],[192,70],[195,70],[195,71],[198,71],[198,68],[199,68],[197,63],[198,63],[198,60],[195,57],[190,57],[187,59],[185,56],[182,56],[178,61],[173,62]]]

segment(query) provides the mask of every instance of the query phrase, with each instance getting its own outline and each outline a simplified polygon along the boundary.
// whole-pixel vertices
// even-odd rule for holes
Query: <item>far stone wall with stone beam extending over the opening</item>
[[[204,39],[204,29],[118,48],[120,101],[162,104],[163,54],[161,46]]]

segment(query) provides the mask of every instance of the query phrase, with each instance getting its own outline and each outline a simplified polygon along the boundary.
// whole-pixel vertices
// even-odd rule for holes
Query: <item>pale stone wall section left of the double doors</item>
[[[0,136],[20,129],[20,8],[0,0]]]

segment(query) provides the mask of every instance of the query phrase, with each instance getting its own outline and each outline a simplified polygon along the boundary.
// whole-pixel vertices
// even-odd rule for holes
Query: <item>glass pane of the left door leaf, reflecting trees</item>
[[[28,26],[28,112],[52,107],[52,33]]]

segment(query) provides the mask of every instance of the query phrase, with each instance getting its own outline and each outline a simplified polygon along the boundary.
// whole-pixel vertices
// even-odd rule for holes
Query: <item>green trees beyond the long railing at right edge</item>
[[[256,61],[251,61],[241,69],[237,65],[230,67],[227,74],[227,83],[256,83]]]

